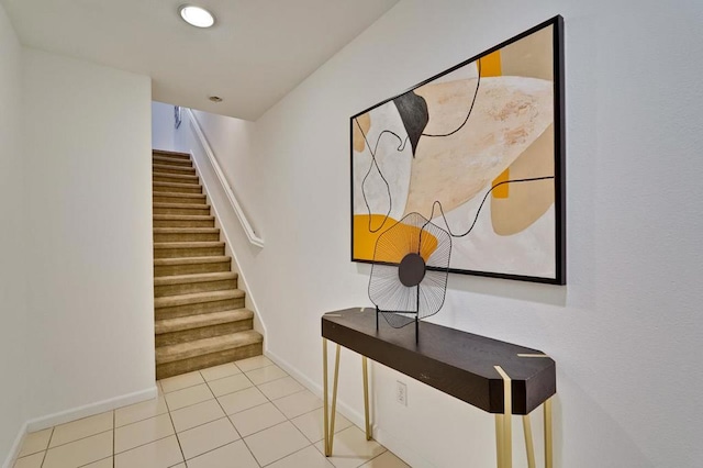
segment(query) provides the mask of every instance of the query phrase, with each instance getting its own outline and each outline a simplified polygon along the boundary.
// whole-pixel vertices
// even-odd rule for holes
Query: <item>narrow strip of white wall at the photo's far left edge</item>
[[[26,278],[21,47],[0,4],[0,465],[25,421]]]

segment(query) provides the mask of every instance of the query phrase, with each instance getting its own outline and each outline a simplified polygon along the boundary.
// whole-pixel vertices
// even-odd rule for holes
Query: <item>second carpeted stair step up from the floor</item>
[[[254,312],[235,309],[202,315],[157,320],[156,346],[169,346],[252,330]]]

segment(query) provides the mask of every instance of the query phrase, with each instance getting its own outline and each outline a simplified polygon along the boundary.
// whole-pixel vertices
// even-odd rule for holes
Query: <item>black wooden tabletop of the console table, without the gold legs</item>
[[[490,413],[503,412],[501,366],[512,380],[512,413],[528,414],[556,393],[556,367],[537,349],[428,322],[391,327],[376,309],[322,316],[322,336]],[[521,356],[524,355],[524,356]]]

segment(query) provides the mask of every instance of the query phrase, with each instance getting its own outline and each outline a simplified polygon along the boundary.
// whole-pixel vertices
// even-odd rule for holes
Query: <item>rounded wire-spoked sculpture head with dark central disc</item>
[[[434,315],[444,304],[451,236],[420,213],[391,225],[376,242],[369,299],[393,327]]]

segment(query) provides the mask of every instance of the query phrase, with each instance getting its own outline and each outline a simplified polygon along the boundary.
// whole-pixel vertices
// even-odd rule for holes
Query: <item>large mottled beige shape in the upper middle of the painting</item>
[[[476,86],[468,79],[417,88],[429,111],[424,133],[446,134],[461,125]],[[553,123],[553,91],[551,81],[536,78],[481,78],[461,130],[420,138],[405,213],[428,218],[435,200],[449,212],[490,185]]]

